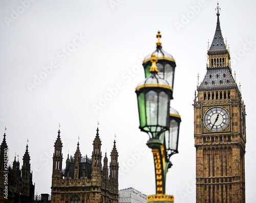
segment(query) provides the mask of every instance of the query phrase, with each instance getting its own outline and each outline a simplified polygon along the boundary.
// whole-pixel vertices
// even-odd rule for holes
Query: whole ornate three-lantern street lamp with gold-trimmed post
[[[150,135],[147,146],[152,149],[155,163],[156,194],[148,195],[147,202],[174,202],[173,195],[165,194],[165,180],[170,157],[178,153],[181,117],[170,108],[173,99],[176,63],[172,55],[162,50],[160,31],[156,51],[143,61],[146,80],[138,85],[140,130]]]

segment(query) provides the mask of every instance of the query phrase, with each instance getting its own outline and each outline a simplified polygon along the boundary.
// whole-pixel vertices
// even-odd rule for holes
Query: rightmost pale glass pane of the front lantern
[[[169,99],[168,94],[165,92],[159,93],[159,104],[158,104],[158,124],[160,126],[168,126],[169,117]]]

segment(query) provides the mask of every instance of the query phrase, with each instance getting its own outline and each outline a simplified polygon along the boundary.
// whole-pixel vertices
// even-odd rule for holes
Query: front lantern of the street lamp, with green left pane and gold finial
[[[136,88],[138,98],[140,130],[158,139],[169,129],[169,104],[172,88],[158,76],[155,54],[151,58],[150,75]]]

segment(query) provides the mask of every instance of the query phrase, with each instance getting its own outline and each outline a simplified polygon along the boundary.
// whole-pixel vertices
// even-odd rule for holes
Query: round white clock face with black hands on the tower
[[[208,110],[204,117],[204,123],[211,131],[222,131],[228,125],[228,121],[228,113],[220,107]]]

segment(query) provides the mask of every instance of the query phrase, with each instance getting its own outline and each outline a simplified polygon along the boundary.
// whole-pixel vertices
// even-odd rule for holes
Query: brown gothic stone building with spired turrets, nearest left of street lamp
[[[93,141],[92,159],[82,157],[79,142],[74,157],[68,155],[66,168],[62,169],[62,143],[60,131],[54,144],[52,172],[53,203],[117,203],[118,202],[118,153],[116,141],[108,158],[101,164],[99,129]],[[109,174],[110,170],[110,174]]]

